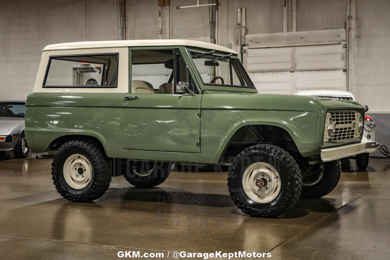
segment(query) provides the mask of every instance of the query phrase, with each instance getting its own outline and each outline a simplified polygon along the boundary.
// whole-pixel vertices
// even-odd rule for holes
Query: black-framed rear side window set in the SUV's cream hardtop
[[[43,87],[117,87],[118,53],[50,56]]]

